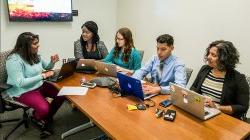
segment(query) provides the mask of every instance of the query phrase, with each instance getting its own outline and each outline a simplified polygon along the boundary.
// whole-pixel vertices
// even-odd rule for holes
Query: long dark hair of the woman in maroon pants
[[[10,52],[8,56],[16,53],[19,54],[21,58],[30,65],[39,63],[39,55],[37,53],[33,54],[31,51],[32,42],[35,39],[39,41],[39,36],[31,32],[21,33],[17,38],[14,49]]]

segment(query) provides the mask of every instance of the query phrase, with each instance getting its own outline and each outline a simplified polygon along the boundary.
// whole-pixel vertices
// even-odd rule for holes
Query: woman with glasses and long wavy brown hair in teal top
[[[133,73],[141,68],[141,55],[134,47],[132,33],[128,28],[121,28],[115,37],[115,47],[103,59],[106,63],[117,65],[117,71]]]

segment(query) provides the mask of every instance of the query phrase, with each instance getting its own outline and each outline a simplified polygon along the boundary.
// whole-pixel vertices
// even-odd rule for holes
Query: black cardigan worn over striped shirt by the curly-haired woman
[[[202,66],[190,89],[201,93],[201,85],[211,69],[212,67],[208,65]],[[226,72],[220,104],[231,105],[232,116],[236,118],[240,118],[247,112],[249,107],[249,86],[244,74],[236,70]]]

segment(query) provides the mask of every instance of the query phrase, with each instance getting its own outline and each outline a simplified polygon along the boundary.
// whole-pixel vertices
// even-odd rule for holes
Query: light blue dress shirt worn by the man
[[[162,72],[159,75],[160,59],[154,56],[144,67],[137,70],[132,77],[142,80],[147,74],[151,75],[151,82],[161,87],[162,94],[169,93],[169,83],[186,86],[185,65],[174,55],[170,55],[164,60]]]

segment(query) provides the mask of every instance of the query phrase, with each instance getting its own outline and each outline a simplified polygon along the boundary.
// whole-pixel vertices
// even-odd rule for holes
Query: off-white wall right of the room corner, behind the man
[[[117,27],[134,33],[137,48],[146,50],[144,62],[156,53],[156,37],[174,36],[174,53],[194,69],[192,83],[205,48],[211,41],[232,41],[240,52],[239,71],[250,75],[249,0],[118,0]]]

